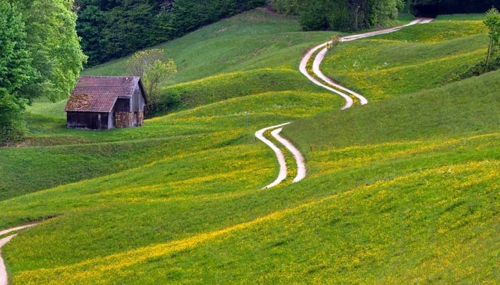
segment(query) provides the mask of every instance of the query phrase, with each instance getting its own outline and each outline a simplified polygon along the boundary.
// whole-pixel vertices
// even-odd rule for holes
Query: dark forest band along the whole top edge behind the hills
[[[221,18],[268,5],[296,15],[304,30],[353,31],[383,26],[399,12],[484,12],[500,0],[75,0],[86,66],[180,37]]]

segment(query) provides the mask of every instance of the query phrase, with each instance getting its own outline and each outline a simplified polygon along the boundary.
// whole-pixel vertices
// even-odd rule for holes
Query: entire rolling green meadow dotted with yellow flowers
[[[302,52],[332,33],[299,32],[294,19],[262,11],[165,44],[178,62],[185,56],[176,83],[164,87],[184,104],[141,128],[66,130],[60,115],[35,105],[36,146],[0,149],[0,229],[57,218],[2,248],[12,283],[495,283],[500,72],[451,83],[426,77],[470,64],[463,54],[485,38],[478,19],[443,17],[331,50],[325,74],[344,74],[342,83],[371,99],[345,111],[296,71]],[[237,35],[257,37],[252,31],[272,44],[241,62],[211,61],[234,58],[218,34],[237,45]],[[434,32],[446,36],[421,42]],[[296,42],[277,44],[283,33]],[[397,56],[382,53],[381,42]],[[239,48],[243,57],[251,50]],[[205,63],[189,49],[212,55]],[[423,64],[450,54],[452,68]],[[359,57],[369,62],[363,70],[393,59],[411,75],[401,81],[414,83],[378,96],[382,80],[349,81],[347,67],[331,64]],[[86,72],[123,72],[123,62]],[[253,133],[286,121],[308,176],[260,189],[277,162]]]

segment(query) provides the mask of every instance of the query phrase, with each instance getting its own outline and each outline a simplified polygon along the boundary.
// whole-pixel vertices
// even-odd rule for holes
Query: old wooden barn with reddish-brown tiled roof
[[[68,128],[142,126],[146,93],[140,77],[80,76],[64,111]]]

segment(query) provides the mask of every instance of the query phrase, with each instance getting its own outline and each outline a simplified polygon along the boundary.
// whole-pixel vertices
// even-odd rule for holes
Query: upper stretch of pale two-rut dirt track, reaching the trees
[[[404,27],[410,26],[410,25],[429,23],[432,20],[433,20],[432,18],[416,18],[415,20],[411,21],[410,23],[402,25],[402,26],[344,36],[344,37],[340,38],[340,41],[341,42],[352,41],[352,40],[370,37],[370,36],[374,36],[374,35],[391,33],[391,32],[398,31],[398,30],[400,30]],[[342,107],[342,110],[350,108],[352,106],[353,99],[351,96],[358,99],[359,103],[361,105],[367,104],[368,100],[364,96],[334,82],[333,80],[331,80],[330,78],[328,78],[327,76],[325,76],[321,72],[321,70],[320,70],[321,62],[323,61],[326,53],[328,52],[328,44],[330,44],[330,43],[331,43],[331,41],[327,41],[325,43],[322,43],[322,44],[317,45],[317,46],[313,47],[312,49],[310,49],[304,55],[304,57],[302,57],[302,60],[300,61],[300,66],[299,66],[300,72],[303,75],[305,75],[305,77],[307,77],[309,79],[309,81],[311,81],[312,83],[319,85],[327,90],[330,90],[330,91],[340,95],[342,98],[344,98],[345,105]],[[309,71],[307,70],[307,64],[309,63],[311,56],[319,49],[321,49],[321,50],[317,53],[317,55],[314,58],[314,61],[312,63],[312,72],[313,72],[313,75],[315,75],[319,78],[319,79],[317,79],[316,77],[314,77],[312,74],[309,73]],[[334,87],[336,89],[334,89],[332,87]],[[340,89],[341,91],[339,91],[337,89]]]

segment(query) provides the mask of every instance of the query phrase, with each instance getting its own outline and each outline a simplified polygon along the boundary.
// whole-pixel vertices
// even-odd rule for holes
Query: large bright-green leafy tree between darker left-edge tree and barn
[[[53,101],[69,96],[85,55],[75,31],[76,13],[72,0],[20,0],[26,42],[39,73],[34,84],[22,92],[29,98],[46,96]]]

